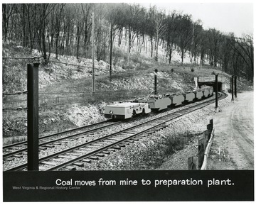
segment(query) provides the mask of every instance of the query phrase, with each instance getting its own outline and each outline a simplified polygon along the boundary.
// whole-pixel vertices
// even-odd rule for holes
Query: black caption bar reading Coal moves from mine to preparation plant
[[[254,201],[253,170],[3,172],[4,201]]]

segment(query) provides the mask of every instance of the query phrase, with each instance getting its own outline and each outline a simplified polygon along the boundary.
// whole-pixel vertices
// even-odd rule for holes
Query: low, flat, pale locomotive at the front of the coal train
[[[127,119],[140,113],[150,113],[149,104],[139,102],[124,102],[105,106],[105,118]]]

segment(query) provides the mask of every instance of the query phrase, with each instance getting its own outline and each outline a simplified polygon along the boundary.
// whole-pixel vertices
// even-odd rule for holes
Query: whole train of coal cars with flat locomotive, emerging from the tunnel
[[[194,92],[183,94],[164,94],[163,96],[151,96],[148,99],[139,99],[132,102],[123,102],[105,106],[105,118],[127,119],[138,114],[146,114],[151,111],[162,111],[168,107],[181,106],[201,99],[213,96],[213,87],[203,87]]]

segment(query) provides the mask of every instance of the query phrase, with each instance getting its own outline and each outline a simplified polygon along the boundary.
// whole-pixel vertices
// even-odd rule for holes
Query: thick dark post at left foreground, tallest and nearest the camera
[[[28,64],[28,170],[38,167],[38,67],[39,63]]]

